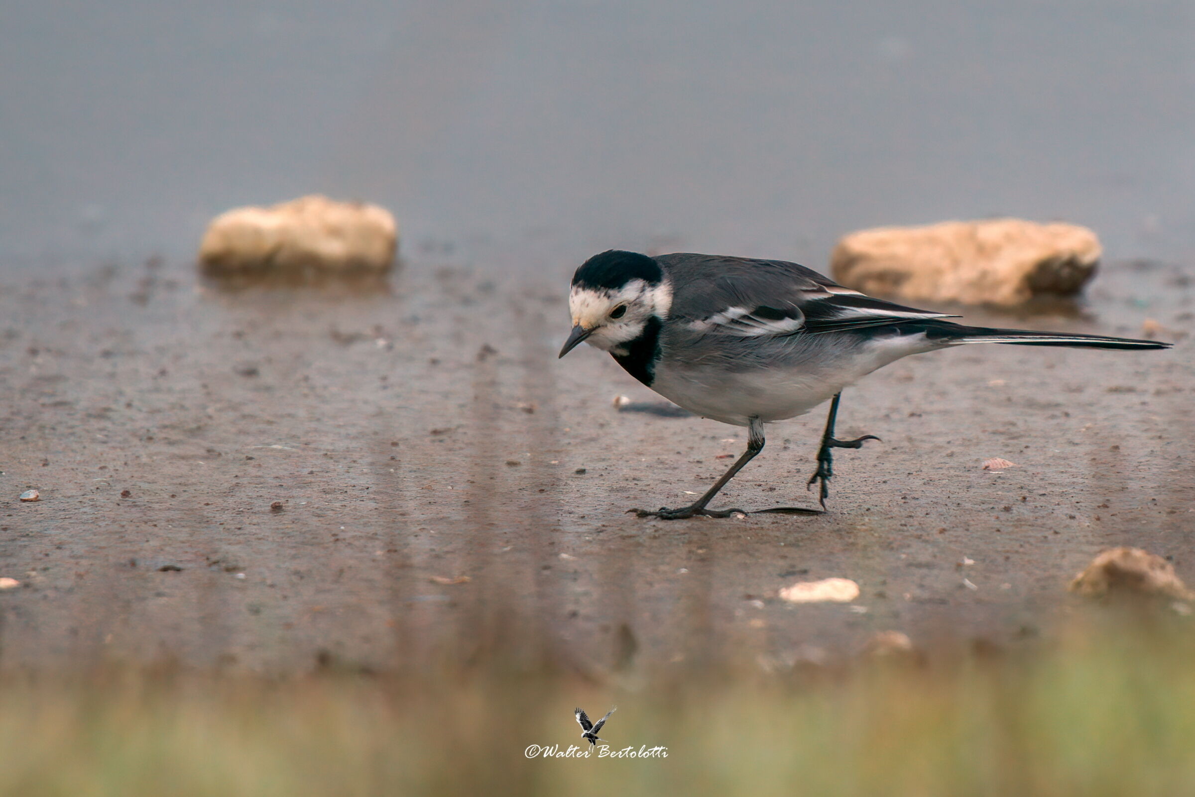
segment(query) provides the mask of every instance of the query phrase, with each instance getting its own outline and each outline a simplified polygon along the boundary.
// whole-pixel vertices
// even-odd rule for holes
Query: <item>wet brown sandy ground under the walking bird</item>
[[[1109,545],[1195,580],[1195,302],[1175,268],[1111,265],[1064,313],[968,312],[1133,336],[1150,318],[1173,350],[899,362],[844,394],[840,434],[883,442],[838,454],[829,514],[674,522],[624,513],[691,499],[743,430],[618,412],[658,399],[596,350],[557,361],[569,271],[244,290],[184,265],[0,271],[0,576],[22,582],[0,593],[0,667],[391,669],[504,639],[581,669],[833,658],[888,629],[1048,633]],[[716,505],[815,505],[822,422],[770,427]],[[774,597],[827,576],[862,596]]]

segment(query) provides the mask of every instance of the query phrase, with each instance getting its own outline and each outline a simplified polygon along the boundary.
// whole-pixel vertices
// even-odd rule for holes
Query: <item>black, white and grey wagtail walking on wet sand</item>
[[[970,343],[1169,349],[1129,338],[964,326],[949,313],[868,296],[786,260],[679,252],[650,257],[608,250],[586,260],[569,292],[572,331],[559,356],[584,342],[608,351],[631,376],[690,412],[747,428],[747,450],[695,502],[639,517],[728,517],[709,504],[764,449],[765,424],[829,401],[817,449],[821,514],[834,476],[833,449],[862,448],[875,435],[834,437],[842,390],[901,357]]]

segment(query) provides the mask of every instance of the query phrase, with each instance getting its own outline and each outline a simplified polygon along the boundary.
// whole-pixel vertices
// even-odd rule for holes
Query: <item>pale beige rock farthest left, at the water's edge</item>
[[[385,208],[312,195],[220,214],[200,244],[200,265],[210,275],[382,274],[397,246]]]

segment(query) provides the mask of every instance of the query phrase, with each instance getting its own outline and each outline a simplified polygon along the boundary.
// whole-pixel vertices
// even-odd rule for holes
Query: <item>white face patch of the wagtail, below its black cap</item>
[[[626,307],[626,312],[611,318],[611,312],[618,307]],[[643,280],[631,280],[615,290],[574,286],[569,294],[572,325],[594,330],[586,342],[614,354],[625,354],[621,344],[643,335],[648,319],[666,317],[669,307],[672,287],[667,282],[650,287]]]

